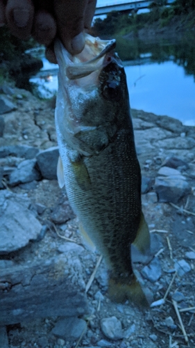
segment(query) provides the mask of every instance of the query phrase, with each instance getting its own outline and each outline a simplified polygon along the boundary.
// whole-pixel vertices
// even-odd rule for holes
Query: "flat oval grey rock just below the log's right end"
[[[58,320],[54,328],[51,330],[51,333],[64,340],[77,340],[80,338],[80,335],[83,333],[86,326],[87,324],[83,319],[78,319],[77,317],[66,317]]]

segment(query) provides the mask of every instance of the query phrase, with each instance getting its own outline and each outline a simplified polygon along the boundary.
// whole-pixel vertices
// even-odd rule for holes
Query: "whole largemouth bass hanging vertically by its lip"
[[[115,45],[115,40],[85,34],[85,48],[71,56],[60,40],[55,42],[57,174],[81,233],[104,257],[110,299],[147,306],[130,246],[146,253],[150,235],[142,212],[126,74]]]

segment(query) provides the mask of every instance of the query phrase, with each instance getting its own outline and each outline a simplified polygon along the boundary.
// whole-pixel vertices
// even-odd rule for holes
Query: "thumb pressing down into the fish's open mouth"
[[[54,0],[58,35],[71,54],[78,54],[85,46],[84,17],[88,0]]]

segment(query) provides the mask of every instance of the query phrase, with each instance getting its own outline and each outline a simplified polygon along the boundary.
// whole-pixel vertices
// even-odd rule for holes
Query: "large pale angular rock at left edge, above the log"
[[[37,238],[42,226],[28,209],[30,204],[24,195],[0,191],[0,254],[16,251]]]

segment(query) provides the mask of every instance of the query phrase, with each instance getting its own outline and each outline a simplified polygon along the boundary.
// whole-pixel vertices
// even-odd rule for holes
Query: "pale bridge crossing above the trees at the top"
[[[173,3],[174,0],[167,0],[167,5]],[[97,1],[95,15],[106,15],[112,11],[132,11],[137,12],[138,10],[149,8],[149,5],[153,3],[150,0],[121,0],[121,1]]]

